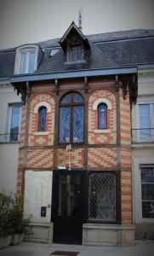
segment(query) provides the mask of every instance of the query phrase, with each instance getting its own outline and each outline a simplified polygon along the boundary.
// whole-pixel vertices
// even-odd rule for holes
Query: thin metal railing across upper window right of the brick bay
[[[154,143],[154,128],[132,129],[132,143]]]

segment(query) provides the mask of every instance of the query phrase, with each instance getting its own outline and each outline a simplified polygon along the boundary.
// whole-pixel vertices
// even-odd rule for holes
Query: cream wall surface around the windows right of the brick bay
[[[138,72],[138,99],[132,108],[132,128],[139,129],[139,104],[154,103],[154,68],[140,69]],[[153,117],[154,119],[154,117]],[[153,121],[152,121],[153,122]],[[154,128],[154,127],[153,127]],[[133,144],[133,190],[134,190],[134,223],[154,224],[154,218],[143,219],[141,208],[140,165],[154,165],[154,143]],[[147,230],[148,232],[148,230]]]

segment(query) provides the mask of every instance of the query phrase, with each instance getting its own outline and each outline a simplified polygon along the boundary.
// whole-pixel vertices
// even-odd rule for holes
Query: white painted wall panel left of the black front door
[[[49,224],[51,218],[53,172],[26,171],[24,215],[32,214],[32,223]],[[41,207],[47,207],[47,216],[41,217]]]

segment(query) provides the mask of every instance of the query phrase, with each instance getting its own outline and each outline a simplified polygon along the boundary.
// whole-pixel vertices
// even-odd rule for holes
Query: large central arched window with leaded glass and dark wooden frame
[[[83,96],[71,92],[60,101],[60,143],[83,143]]]

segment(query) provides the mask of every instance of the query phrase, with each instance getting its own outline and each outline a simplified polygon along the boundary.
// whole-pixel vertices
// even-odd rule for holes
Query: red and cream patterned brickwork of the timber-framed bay
[[[97,82],[95,82],[95,86]],[[92,84],[92,83],[91,83]],[[101,81],[102,84],[102,81]],[[100,84],[100,85],[101,85]],[[49,84],[48,84],[49,85]],[[93,84],[94,85],[94,84]],[[100,86],[99,85],[99,86]],[[111,86],[111,84],[109,84]],[[75,84],[82,90],[82,84]],[[91,85],[92,86],[92,85]],[[101,87],[101,86],[100,86]],[[53,170],[54,167],[66,166],[68,168],[69,154],[66,147],[60,145],[54,148],[54,132],[57,132],[58,124],[54,128],[55,102],[54,93],[49,93],[49,86],[40,88],[34,86],[32,90],[37,92],[36,96],[32,95],[30,105],[28,140],[26,140],[26,107],[23,108],[21,120],[20,135],[20,154],[19,154],[19,177],[18,177],[18,194],[22,192],[22,182],[24,170],[29,168],[35,170]],[[72,89],[72,84],[63,84],[62,90]],[[40,91],[43,90],[43,93]],[[39,93],[38,93],[39,91]],[[85,94],[83,93],[85,96]],[[61,96],[61,92],[60,92]],[[71,149],[71,168],[87,170],[112,170],[121,172],[121,207],[123,224],[132,222],[132,174],[131,174],[131,133],[130,133],[130,107],[129,96],[123,99],[123,90],[120,89],[120,119],[117,120],[117,100],[111,90],[100,88],[90,90],[90,96],[86,95],[88,102],[88,145],[77,148],[75,145]],[[93,109],[94,102],[100,98],[105,98],[111,103],[111,109],[107,110],[107,131],[98,131],[98,113]],[[46,133],[38,133],[38,113],[34,113],[34,108],[39,102],[47,102],[51,111],[47,113]],[[56,109],[58,112],[58,109]],[[120,122],[120,145],[117,147],[117,121]],[[106,129],[105,129],[106,130]],[[26,148],[24,148],[26,146]],[[118,148],[118,151],[117,151]],[[118,152],[118,154],[117,154]],[[120,161],[117,156],[120,155]],[[86,163],[87,166],[86,166]],[[117,165],[118,163],[118,165]],[[23,170],[23,171],[22,171]],[[119,171],[121,170],[121,171]]]

